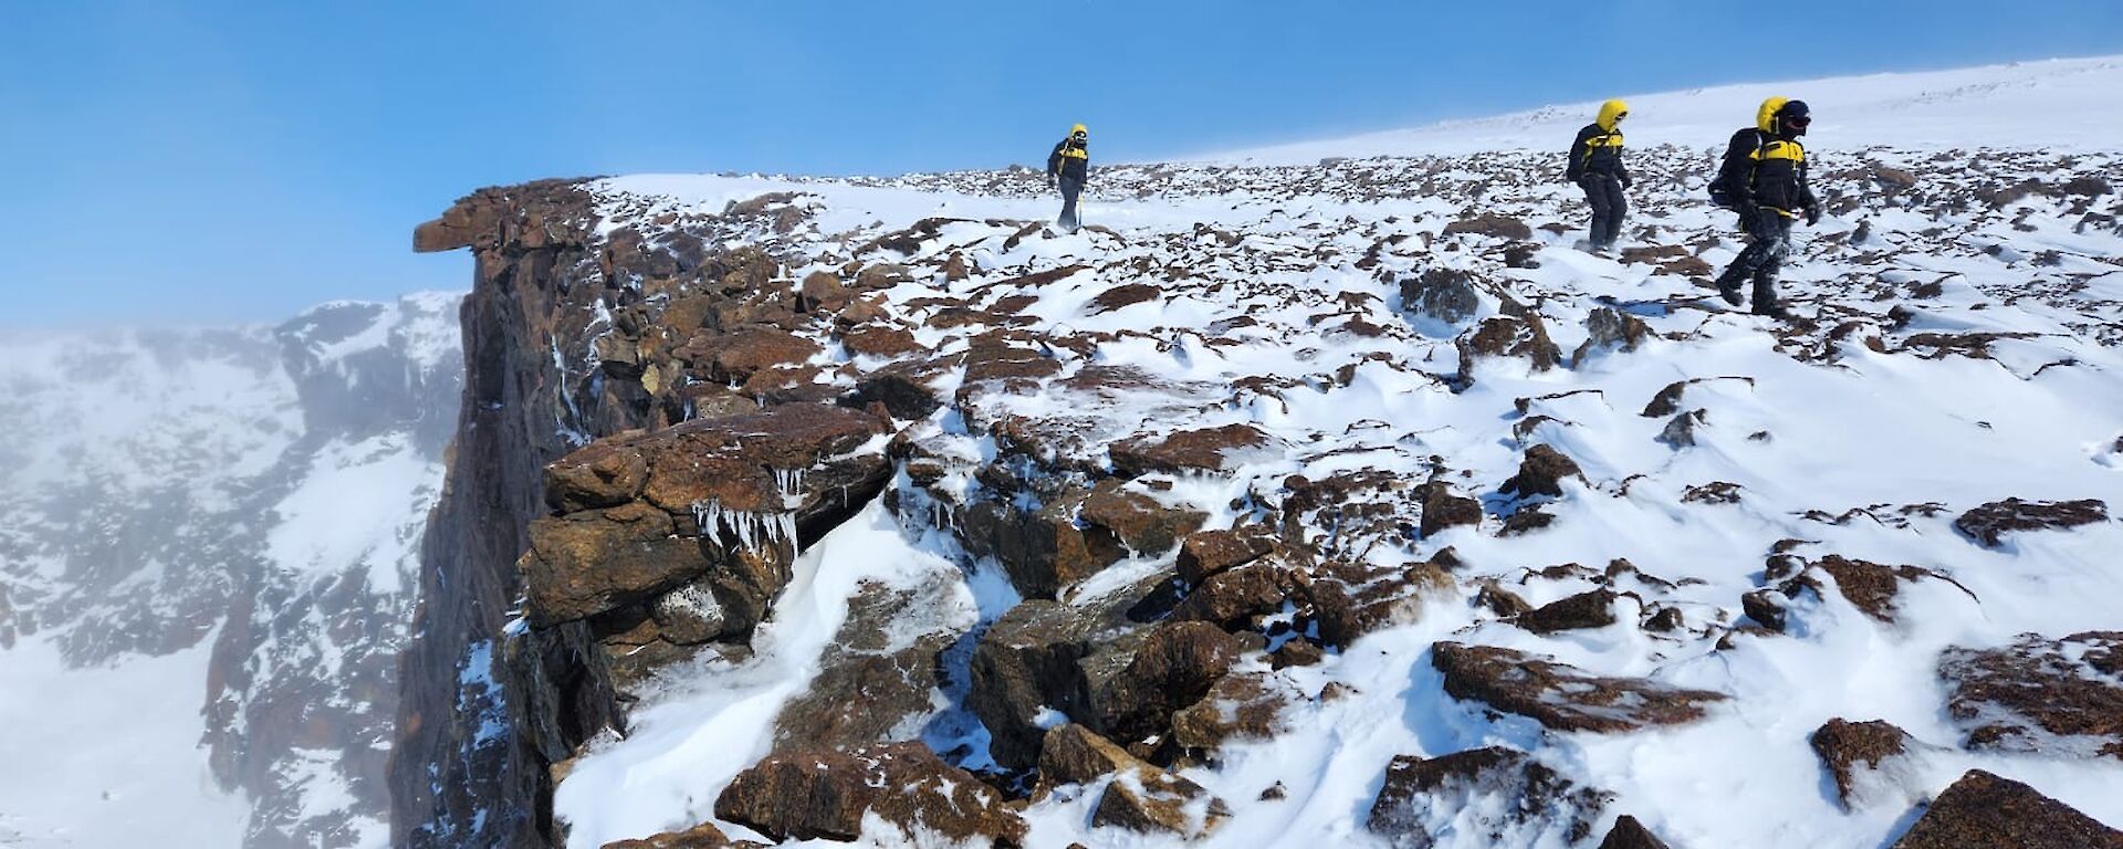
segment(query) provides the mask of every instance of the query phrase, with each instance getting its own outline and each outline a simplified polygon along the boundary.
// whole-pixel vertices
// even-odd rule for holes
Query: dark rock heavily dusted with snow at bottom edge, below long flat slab
[[[1399,756],[1386,766],[1365,828],[1395,847],[1418,849],[1433,847],[1448,828],[1484,834],[1492,845],[1577,845],[1609,802],[1611,794],[1580,787],[1516,749]]]

